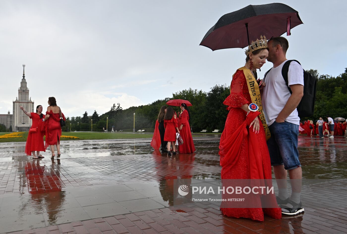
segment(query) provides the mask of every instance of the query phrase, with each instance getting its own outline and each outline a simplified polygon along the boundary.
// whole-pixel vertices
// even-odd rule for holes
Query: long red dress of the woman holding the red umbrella
[[[179,135],[181,135],[183,140],[183,145],[179,146],[179,153],[190,154],[195,151],[195,146],[192,138],[191,125],[189,125],[188,111],[184,110],[178,116],[178,128],[183,124],[181,130],[179,130]]]

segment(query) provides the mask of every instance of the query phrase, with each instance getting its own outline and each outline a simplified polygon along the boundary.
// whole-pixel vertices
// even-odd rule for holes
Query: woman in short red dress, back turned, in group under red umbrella
[[[164,134],[164,141],[168,142],[168,155],[171,156],[170,148],[172,144],[172,153],[176,154],[176,130],[179,133],[178,130],[178,124],[176,119],[176,113],[174,109],[169,106],[166,109],[166,113],[164,115],[164,128],[165,128],[165,134]]]

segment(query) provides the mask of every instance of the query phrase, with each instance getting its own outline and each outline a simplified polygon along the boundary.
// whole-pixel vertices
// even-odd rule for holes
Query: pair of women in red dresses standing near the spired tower
[[[54,146],[57,148],[57,157],[60,157],[60,136],[61,136],[61,119],[65,121],[65,116],[57,106],[56,98],[49,97],[46,114],[42,113],[42,105],[36,106],[36,112],[27,112],[23,106],[20,109],[32,119],[32,126],[28,132],[28,138],[25,145],[25,153],[33,155],[34,159],[44,158],[41,151],[46,151],[47,147],[51,148],[51,159],[56,156]],[[45,142],[43,137],[46,136]],[[36,152],[36,153],[35,153]]]

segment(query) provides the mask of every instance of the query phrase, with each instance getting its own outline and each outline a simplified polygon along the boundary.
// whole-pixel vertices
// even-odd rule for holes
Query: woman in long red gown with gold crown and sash
[[[222,181],[230,181],[226,179],[247,179],[245,181],[249,179],[272,179],[270,155],[266,145],[265,131],[261,124],[262,121],[257,116],[261,113],[249,112],[248,106],[252,103],[252,99],[247,83],[248,80],[254,80],[254,86],[258,86],[253,71],[262,67],[266,62],[265,59],[268,57],[268,54],[267,45],[266,47],[248,53],[245,66],[239,68],[232,77],[230,95],[223,102],[223,104],[228,106],[229,113],[219,144]],[[247,80],[245,73],[248,74]],[[259,85],[263,84],[260,81]],[[256,88],[259,92],[259,88]],[[249,123],[246,121],[249,121]],[[243,125],[245,128],[240,130],[240,127]],[[238,137],[241,134],[244,137]],[[252,138],[248,138],[248,136],[252,136]],[[253,139],[252,142],[249,139]],[[238,143],[234,144],[233,141],[238,141]],[[256,150],[256,154],[254,154],[254,149]],[[259,173],[255,175],[254,169]],[[245,205],[252,207],[251,203],[256,203],[258,208],[229,208],[230,206],[223,208],[222,202],[220,209],[228,217],[250,218],[263,221],[264,214],[266,214],[272,218],[281,218],[281,208],[277,205],[276,197],[274,194],[271,194],[269,197],[276,208],[261,208],[263,203],[260,196],[254,196],[251,201],[247,200],[248,203]]]

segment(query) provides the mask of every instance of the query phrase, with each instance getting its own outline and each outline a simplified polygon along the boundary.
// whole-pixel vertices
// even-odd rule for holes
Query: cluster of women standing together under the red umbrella
[[[187,104],[182,103],[180,109],[181,112],[177,114],[171,106],[162,106],[158,114],[158,119],[155,122],[151,146],[154,149],[159,149],[161,146],[162,152],[167,153],[168,156],[171,156],[171,146],[172,154],[174,155],[177,152],[189,154],[195,151],[191,127],[189,125],[190,112]],[[178,143],[179,136],[182,142],[180,142],[178,149],[176,142]]]

